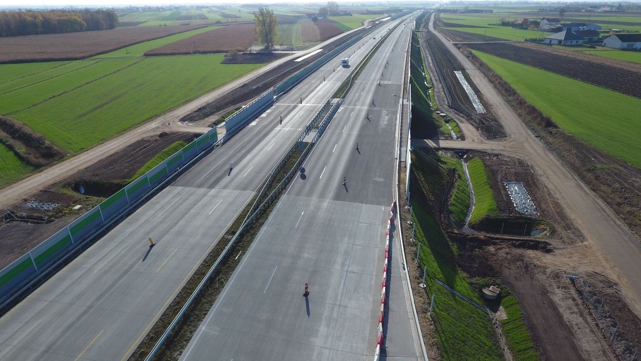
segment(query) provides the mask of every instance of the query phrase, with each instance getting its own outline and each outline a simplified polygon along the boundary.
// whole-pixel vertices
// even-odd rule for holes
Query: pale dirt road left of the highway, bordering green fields
[[[47,188],[51,184],[59,182],[60,180],[65,179],[66,177],[69,177],[70,175],[73,175],[74,173],[77,173],[80,170],[91,166],[92,164],[95,164],[97,161],[100,161],[101,159],[104,159],[109,155],[122,150],[126,146],[135,143],[135,141],[137,141],[138,139],[152,136],[160,132],[204,133],[210,128],[184,125],[179,123],[179,119],[183,118],[183,116],[193,112],[199,107],[206,105],[212,100],[226,96],[226,94],[232,92],[237,87],[242,86],[249,80],[260,76],[263,73],[267,73],[267,71],[287,62],[288,60],[292,60],[307,53],[311,53],[312,51],[315,51],[317,49],[321,49],[323,46],[326,46],[326,44],[335,41],[337,38],[343,37],[360,29],[361,28],[356,28],[354,30],[346,31],[345,33],[340,33],[336,37],[328,39],[311,49],[294,53],[288,57],[280,58],[261,67],[260,69],[256,69],[256,71],[253,71],[225,85],[222,85],[221,87],[218,87],[213,91],[208,92],[207,94],[204,94],[199,98],[196,98],[195,100],[189,101],[188,103],[185,103],[185,105],[181,105],[180,107],[171,110],[170,112],[162,114],[158,116],[158,118],[147,121],[146,123],[140,125],[139,127],[133,128],[132,130],[126,132],[125,134],[122,134],[121,136],[117,136],[110,141],[106,141],[101,145],[97,145],[90,150],[87,150],[70,159],[62,161],[61,163],[49,166],[41,172],[30,175],[29,177],[22,179],[15,184],[0,189],[0,204],[7,206],[10,204],[14,204],[15,202],[19,202],[19,200],[21,200],[22,198],[29,197],[33,193]]]

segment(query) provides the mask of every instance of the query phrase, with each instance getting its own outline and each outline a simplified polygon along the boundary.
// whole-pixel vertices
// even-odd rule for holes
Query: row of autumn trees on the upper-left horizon
[[[112,10],[51,10],[0,12],[0,37],[107,30],[118,26]]]

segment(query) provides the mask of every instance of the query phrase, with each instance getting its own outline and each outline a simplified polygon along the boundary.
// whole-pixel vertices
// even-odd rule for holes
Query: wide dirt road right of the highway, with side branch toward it
[[[467,71],[505,128],[508,137],[504,141],[485,141],[474,134],[476,130],[472,130],[472,133],[466,134],[466,141],[433,140],[424,141],[424,144],[437,148],[494,150],[519,157],[531,164],[576,229],[583,233],[585,245],[594,250],[583,263],[576,266],[610,277],[620,286],[629,308],[641,317],[641,274],[638,272],[641,247],[638,240],[617,220],[601,199],[545,148],[483,73],[451,42],[435,31],[433,19],[432,15],[429,30],[444,42],[445,47]],[[468,131],[471,130],[469,128]],[[415,145],[420,146],[420,143]],[[569,272],[569,267],[574,266],[566,265]]]

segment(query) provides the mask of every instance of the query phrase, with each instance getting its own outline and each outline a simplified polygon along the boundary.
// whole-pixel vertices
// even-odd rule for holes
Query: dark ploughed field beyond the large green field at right
[[[467,48],[641,98],[641,73],[635,71],[506,42],[467,44]]]

